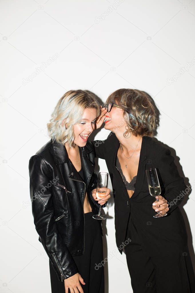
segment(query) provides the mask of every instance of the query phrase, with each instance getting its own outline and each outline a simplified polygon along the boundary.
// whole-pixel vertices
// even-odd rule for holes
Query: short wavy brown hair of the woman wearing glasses
[[[106,104],[115,103],[116,101],[124,110],[123,117],[130,127],[129,132],[132,132],[135,136],[137,134],[140,136],[154,136],[156,111],[147,93],[130,88],[121,88],[108,96]]]

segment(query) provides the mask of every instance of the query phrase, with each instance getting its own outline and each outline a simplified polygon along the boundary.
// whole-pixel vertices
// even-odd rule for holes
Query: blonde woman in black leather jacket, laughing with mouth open
[[[48,257],[52,293],[103,293],[102,226],[92,218],[99,204],[94,152],[88,141],[99,105],[92,93],[68,91],[58,101],[50,123],[51,141],[30,158],[30,196],[34,224]],[[41,270],[40,270],[41,272]]]

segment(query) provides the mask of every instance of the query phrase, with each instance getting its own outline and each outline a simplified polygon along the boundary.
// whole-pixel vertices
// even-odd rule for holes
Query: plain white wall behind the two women
[[[0,292],[51,292],[31,212],[28,162],[49,141],[46,123],[66,91],[88,89],[102,103],[118,88],[149,93],[160,111],[157,139],[176,151],[185,183],[195,183],[195,1],[1,1],[0,27]],[[108,134],[101,129],[94,137]],[[101,159],[99,167],[107,170]],[[194,193],[182,208],[193,261]],[[117,251],[113,198],[104,212],[106,257]],[[105,293],[132,292],[124,253],[106,263],[105,283]]]

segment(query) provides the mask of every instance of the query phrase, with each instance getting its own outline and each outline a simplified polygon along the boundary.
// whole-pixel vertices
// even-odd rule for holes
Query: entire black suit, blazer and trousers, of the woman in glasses
[[[125,248],[134,293],[189,293],[189,285],[190,293],[194,293],[195,278],[187,246],[187,231],[178,207],[186,194],[187,186],[168,147],[154,137],[142,137],[135,190],[129,198],[116,168],[120,143],[115,133],[111,132],[103,141],[96,140],[92,143],[95,156],[105,159],[111,178],[116,244],[121,254]],[[149,193],[145,172],[149,168],[157,169],[161,195],[171,205],[165,217],[153,217],[156,214],[152,208],[155,199]],[[146,288],[146,282],[151,282],[152,286],[148,284]],[[183,287],[184,291],[181,291]]]

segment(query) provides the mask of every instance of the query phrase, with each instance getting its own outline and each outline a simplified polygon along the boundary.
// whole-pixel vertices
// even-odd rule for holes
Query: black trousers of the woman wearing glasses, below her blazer
[[[131,242],[125,246],[125,253],[134,293],[195,292],[194,270],[188,247],[185,248],[185,253],[178,252],[168,258],[163,255],[146,256],[131,219],[127,228],[128,237]]]

